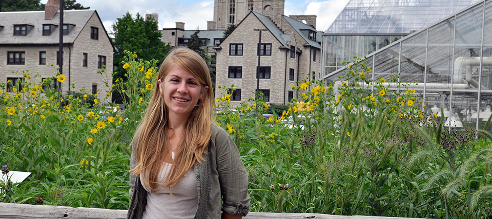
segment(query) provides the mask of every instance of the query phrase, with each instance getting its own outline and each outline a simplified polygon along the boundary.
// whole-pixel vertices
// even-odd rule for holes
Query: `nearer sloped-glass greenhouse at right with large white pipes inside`
[[[492,0],[413,32],[367,55],[365,63],[372,81],[398,78],[387,82],[389,89],[403,83],[415,89],[423,100],[419,107],[448,126],[478,129],[492,114]],[[324,82],[342,74],[343,68],[328,73]]]

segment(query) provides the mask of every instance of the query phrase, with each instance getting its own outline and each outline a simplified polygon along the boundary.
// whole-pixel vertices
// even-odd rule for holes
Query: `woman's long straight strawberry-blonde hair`
[[[159,91],[157,80],[164,77],[173,67],[180,67],[197,78],[202,84],[202,98],[193,109],[184,131],[184,136],[176,149],[176,157],[169,174],[165,177],[168,182],[164,187],[176,185],[181,177],[193,167],[196,161],[203,161],[207,145],[212,136],[212,116],[214,115],[214,93],[207,63],[203,58],[188,48],[177,48],[164,59],[154,85],[154,94],[149,107],[140,122],[133,140],[136,140],[134,156],[136,160],[133,175],[145,174],[142,183],[152,192],[160,189],[157,180],[162,167],[165,153],[169,146],[169,132],[173,130],[168,125],[168,112],[164,97]],[[163,85],[163,84],[162,84]],[[209,89],[204,89],[208,86]]]

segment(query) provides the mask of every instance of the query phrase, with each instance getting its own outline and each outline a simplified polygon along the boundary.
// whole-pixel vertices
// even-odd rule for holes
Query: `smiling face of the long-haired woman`
[[[189,116],[199,99],[208,91],[208,86],[202,86],[197,78],[174,66],[164,79],[159,79],[159,91],[169,109],[169,116]]]

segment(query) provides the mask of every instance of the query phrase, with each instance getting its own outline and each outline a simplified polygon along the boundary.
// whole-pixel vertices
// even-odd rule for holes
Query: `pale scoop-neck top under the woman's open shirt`
[[[163,163],[157,180],[164,179],[170,169],[171,164]],[[143,182],[142,174],[140,174],[140,181]],[[163,181],[162,185],[166,183],[167,180]],[[192,219],[195,217],[198,209],[198,189],[193,168],[190,168],[180,181],[171,187],[174,197],[171,196],[167,187],[150,192],[150,189],[143,183],[142,186],[147,191],[147,206],[143,219]]]

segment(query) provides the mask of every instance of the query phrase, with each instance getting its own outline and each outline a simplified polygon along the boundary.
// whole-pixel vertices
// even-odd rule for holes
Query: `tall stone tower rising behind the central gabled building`
[[[207,29],[226,29],[239,24],[251,11],[270,17],[279,24],[285,0],[215,0],[214,21],[208,21]]]

